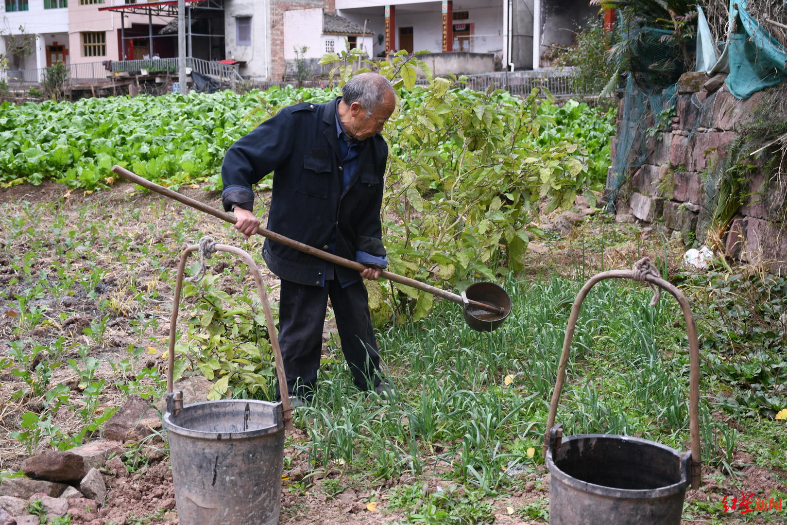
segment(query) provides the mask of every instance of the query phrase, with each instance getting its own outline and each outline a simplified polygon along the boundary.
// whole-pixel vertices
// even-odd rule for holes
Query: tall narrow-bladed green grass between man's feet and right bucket
[[[581,283],[504,286],[513,308],[497,331],[472,331],[446,302],[427,319],[379,333],[396,401],[354,390],[342,360],[324,368],[316,401],[296,413],[297,425],[309,432],[301,446],[312,464],[338,462],[375,479],[437,473],[493,491],[512,465],[540,463],[538,454],[527,457],[527,448],[540,450]],[[650,293],[612,281],[586,299],[557,416],[567,434],[630,434],[686,448],[688,342],[682,322],[673,323],[682,316],[667,298],[649,306]],[[717,431],[707,402],[700,411],[704,434],[726,435]],[[704,447],[705,459],[721,460],[734,438],[716,438]]]

